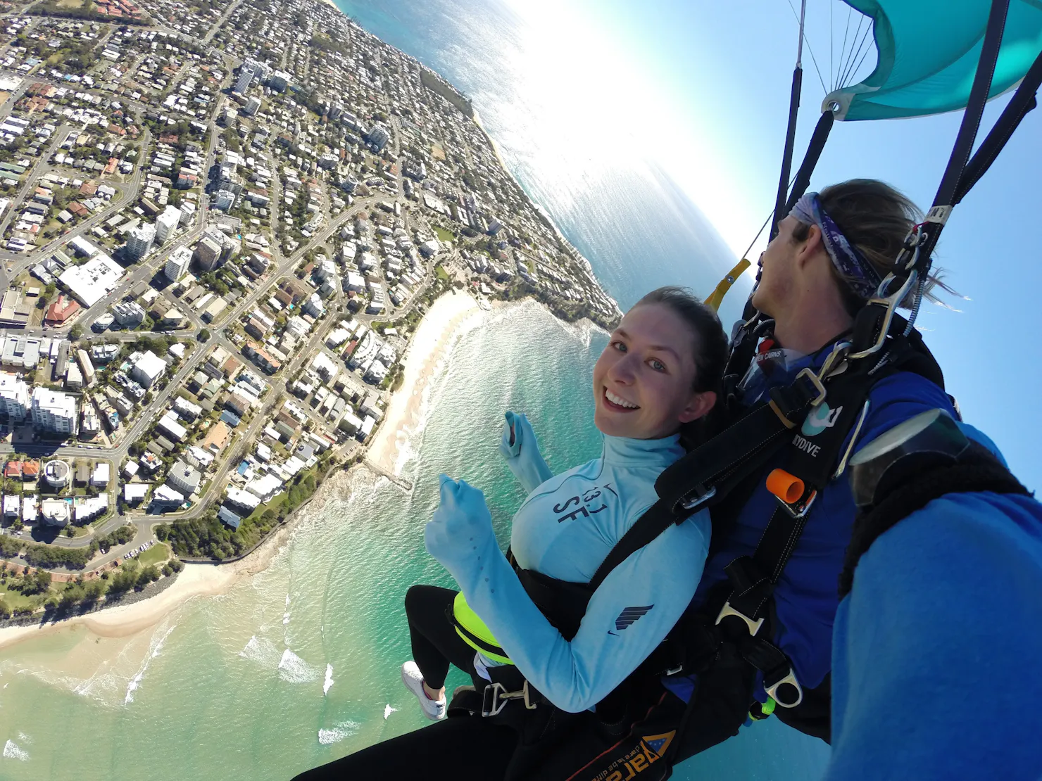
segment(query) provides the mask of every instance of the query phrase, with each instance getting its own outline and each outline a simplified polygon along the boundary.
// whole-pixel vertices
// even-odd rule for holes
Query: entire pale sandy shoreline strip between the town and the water
[[[375,468],[387,474],[397,474],[401,445],[419,422],[424,391],[447,358],[466,322],[481,311],[474,297],[466,292],[453,291],[436,299],[410,339],[402,358],[402,385],[392,394],[384,420],[367,448],[366,458],[354,467],[330,474],[309,501],[245,557],[226,563],[185,562],[170,586],[132,604],[102,607],[47,624],[0,628],[0,649],[76,626],[83,626],[102,637],[126,637],[154,627],[196,597],[227,594],[244,577],[264,572],[297,525],[313,511],[321,512],[326,502],[340,494],[342,484],[353,470]]]

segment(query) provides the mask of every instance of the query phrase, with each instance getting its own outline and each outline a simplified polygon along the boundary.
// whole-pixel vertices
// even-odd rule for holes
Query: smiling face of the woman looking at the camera
[[[594,423],[601,433],[659,439],[709,411],[715,395],[693,389],[696,342],[691,326],[665,304],[626,312],[593,369]]]

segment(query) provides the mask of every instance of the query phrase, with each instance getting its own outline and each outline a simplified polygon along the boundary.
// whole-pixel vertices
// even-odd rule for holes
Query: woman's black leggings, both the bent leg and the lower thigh
[[[431,688],[445,685],[450,663],[474,675],[474,649],[460,638],[445,613],[455,595],[428,585],[413,586],[405,595],[413,659]],[[446,719],[302,773],[294,781],[495,781],[506,774],[517,740],[515,730],[485,719]]]

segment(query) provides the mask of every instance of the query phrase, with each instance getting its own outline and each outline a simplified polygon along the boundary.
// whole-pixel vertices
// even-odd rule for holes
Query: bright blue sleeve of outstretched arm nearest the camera
[[[882,534],[840,604],[827,781],[1042,778],[1042,505],[957,494]]]

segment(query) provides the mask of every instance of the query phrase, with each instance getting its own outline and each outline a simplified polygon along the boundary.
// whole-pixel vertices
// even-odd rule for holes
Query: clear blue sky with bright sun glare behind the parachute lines
[[[830,4],[838,46],[845,21],[840,4],[808,3],[810,44],[826,82]],[[601,64],[612,62],[612,80],[628,87],[616,95],[620,108],[627,104],[625,110],[650,133],[644,137],[655,138],[650,153],[741,252],[770,209],[777,182],[796,48],[788,2],[517,0],[512,5],[543,25],[552,19],[574,36],[577,60],[588,60],[584,52],[597,52]],[[870,65],[871,57],[866,68]],[[642,85],[639,93],[635,84]],[[797,165],[823,96],[804,53]],[[990,105],[985,129],[1003,101]],[[960,119],[950,114],[838,124],[812,188],[876,177],[926,207]],[[1040,132],[1042,109],[1037,109],[945,230],[937,263],[969,300],[951,301],[958,311],[924,307],[919,321],[967,421],[996,440],[1029,487],[1042,485],[1035,456],[1042,411],[1027,402],[1039,378],[1029,346],[1042,286],[1036,227],[1042,205]]]

